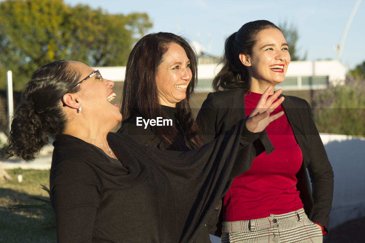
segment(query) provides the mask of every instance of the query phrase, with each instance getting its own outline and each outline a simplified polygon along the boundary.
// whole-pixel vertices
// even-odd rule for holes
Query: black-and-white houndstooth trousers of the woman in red
[[[322,230],[304,209],[262,219],[224,221],[221,243],[322,243]]]

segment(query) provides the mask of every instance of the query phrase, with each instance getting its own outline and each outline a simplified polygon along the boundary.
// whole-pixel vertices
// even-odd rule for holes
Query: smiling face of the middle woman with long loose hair
[[[176,107],[177,102],[185,99],[192,78],[190,60],[184,48],[176,43],[169,45],[162,58],[156,73],[158,99],[161,105]]]

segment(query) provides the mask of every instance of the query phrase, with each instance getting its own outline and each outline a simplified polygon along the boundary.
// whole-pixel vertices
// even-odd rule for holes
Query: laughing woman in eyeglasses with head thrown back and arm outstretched
[[[262,96],[246,120],[189,152],[142,146],[110,130],[122,119],[114,83],[84,63],[55,61],[37,69],[22,93],[6,153],[34,159],[55,136],[50,198],[57,242],[192,242],[227,181],[271,143],[262,133],[283,99]],[[264,136],[263,136],[264,135]],[[253,143],[259,138],[258,143]]]

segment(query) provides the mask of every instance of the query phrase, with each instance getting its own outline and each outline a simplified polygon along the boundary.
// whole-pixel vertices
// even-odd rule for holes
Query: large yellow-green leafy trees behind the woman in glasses
[[[20,90],[39,66],[69,59],[89,66],[125,65],[134,38],[152,26],[144,13],[110,15],[62,0],[0,2],[0,73]],[[5,77],[0,77],[4,88]]]

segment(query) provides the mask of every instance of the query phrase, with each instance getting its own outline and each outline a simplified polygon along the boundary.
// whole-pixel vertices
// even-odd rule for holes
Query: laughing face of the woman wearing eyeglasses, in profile
[[[81,73],[80,81],[88,77],[94,69],[82,62],[70,62],[70,67]],[[119,112],[118,105],[110,103],[115,98],[112,90],[114,82],[105,78],[101,79],[99,75],[93,75],[80,84],[80,104],[82,105],[82,113],[95,114],[95,119],[105,119],[111,122],[119,122],[122,115]]]

